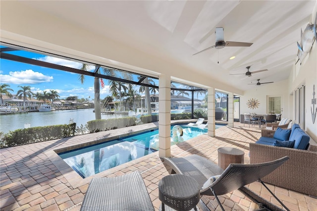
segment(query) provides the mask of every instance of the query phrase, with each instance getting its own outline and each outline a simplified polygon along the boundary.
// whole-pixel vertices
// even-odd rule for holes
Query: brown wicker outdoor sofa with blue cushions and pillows
[[[276,131],[281,130],[278,128]],[[281,136],[276,135],[276,131],[271,130],[269,133],[266,130],[259,141],[249,144],[250,163],[268,162],[288,156],[289,160],[265,176],[263,181],[317,197],[317,146],[309,144],[309,136],[298,124],[292,126],[289,138],[284,141],[277,139]],[[282,132],[286,133],[286,130]],[[292,144],[293,140],[295,142]]]

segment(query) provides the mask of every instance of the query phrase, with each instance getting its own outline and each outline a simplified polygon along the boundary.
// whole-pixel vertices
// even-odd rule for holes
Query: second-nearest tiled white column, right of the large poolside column
[[[211,137],[215,136],[215,99],[214,99],[214,88],[208,88],[208,135]]]

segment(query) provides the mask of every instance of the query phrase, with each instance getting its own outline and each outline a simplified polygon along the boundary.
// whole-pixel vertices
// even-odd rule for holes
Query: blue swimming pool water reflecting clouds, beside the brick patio
[[[219,125],[216,125],[216,128],[218,127]],[[179,130],[181,129],[176,131],[176,128],[179,129],[179,125],[171,126],[171,145],[208,132],[207,128],[200,129],[181,125],[183,136],[180,136]],[[158,143],[159,130],[156,129],[58,155],[80,176],[86,178],[156,152],[159,148]]]

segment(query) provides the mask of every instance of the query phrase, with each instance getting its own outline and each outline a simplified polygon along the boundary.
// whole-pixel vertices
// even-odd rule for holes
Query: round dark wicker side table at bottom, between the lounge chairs
[[[194,208],[197,211],[200,189],[198,182],[190,176],[183,174],[164,176],[159,181],[159,200],[162,202],[160,210],[165,211],[164,205],[166,205],[166,210],[189,211]]]

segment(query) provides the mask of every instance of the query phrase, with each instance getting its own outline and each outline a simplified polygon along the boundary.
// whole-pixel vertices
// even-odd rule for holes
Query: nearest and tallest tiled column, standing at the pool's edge
[[[170,157],[170,76],[159,76],[159,157]]]

